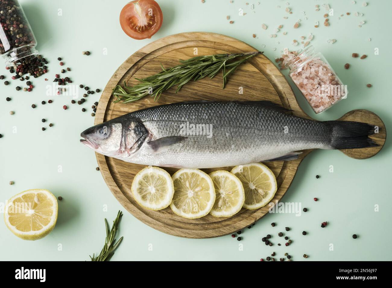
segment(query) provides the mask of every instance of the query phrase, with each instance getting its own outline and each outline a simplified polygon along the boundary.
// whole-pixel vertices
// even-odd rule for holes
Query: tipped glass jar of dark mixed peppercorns
[[[7,67],[38,55],[37,42],[18,0],[0,0],[0,54]]]

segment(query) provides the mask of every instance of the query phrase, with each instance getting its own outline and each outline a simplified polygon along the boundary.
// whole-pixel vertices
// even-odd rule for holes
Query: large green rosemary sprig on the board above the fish
[[[125,82],[124,87],[117,85],[114,87],[112,95],[117,98],[115,102],[123,101],[123,103],[128,103],[139,100],[147,95],[154,97],[154,101],[156,101],[163,91],[175,85],[177,85],[177,93],[190,80],[197,81],[204,77],[214,78],[221,70],[223,70],[222,88],[225,88],[227,78],[239,65],[254,55],[262,53],[256,51],[196,56],[188,60],[179,60],[180,65],[168,69],[163,68],[161,63],[162,71],[158,74],[143,79],[136,78],[140,83],[135,86],[127,86]]]

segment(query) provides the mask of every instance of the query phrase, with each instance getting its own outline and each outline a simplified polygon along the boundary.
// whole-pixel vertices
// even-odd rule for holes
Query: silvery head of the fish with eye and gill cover
[[[137,120],[111,120],[84,130],[80,136],[84,138],[80,139],[80,142],[94,151],[125,159],[133,156],[142,147],[148,131]]]

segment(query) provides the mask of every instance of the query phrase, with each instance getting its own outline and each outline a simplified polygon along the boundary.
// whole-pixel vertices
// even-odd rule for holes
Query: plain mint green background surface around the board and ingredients
[[[290,84],[298,97],[299,104],[310,116],[318,120],[334,120],[349,110],[368,109],[376,112],[387,128],[391,127],[390,109],[390,49],[391,37],[390,11],[388,0],[363,1],[351,0],[328,1],[334,9],[330,16],[330,27],[323,26],[322,1],[292,1],[289,7],[293,14],[284,11],[283,0],[246,1],[200,0],[174,1],[158,0],[164,21],[162,28],[152,39],[133,40],[123,33],[118,23],[118,15],[127,1],[49,1],[21,0],[25,13],[38,40],[38,50],[49,63],[47,78],[52,80],[60,66],[56,58],[64,58],[67,72],[74,83],[83,83],[94,89],[103,89],[117,67],[132,53],[147,43],[161,37],[188,31],[209,31],[238,38],[265,51],[265,55],[274,60],[279,51],[292,46],[292,40],[300,36],[314,34],[312,44],[324,54],[329,63],[339,74],[343,83],[348,85],[348,98],[336,107],[316,115],[305,99]],[[254,9],[250,9],[254,4]],[[314,5],[320,5],[316,12]],[[281,8],[277,8],[280,5]],[[58,16],[58,9],[62,16]],[[238,15],[243,8],[245,16]],[[302,11],[308,20],[304,20]],[[356,11],[363,17],[356,17]],[[340,14],[350,12],[350,16]],[[226,15],[234,24],[229,24]],[[289,16],[284,20],[283,16]],[[301,26],[293,25],[301,19]],[[365,20],[361,28],[361,20]],[[319,28],[314,28],[319,21]],[[261,24],[268,25],[267,31]],[[277,38],[269,38],[273,29],[283,24],[283,29],[276,33]],[[283,35],[287,31],[287,35]],[[252,38],[255,33],[257,38]],[[328,44],[327,39],[336,39]],[[371,42],[368,42],[371,38]],[[279,44],[276,42],[280,42]],[[266,47],[262,48],[262,44]],[[276,51],[272,48],[277,47]],[[298,49],[300,45],[295,47]],[[102,51],[107,48],[107,55]],[[374,55],[374,49],[379,55]],[[82,51],[91,51],[91,56],[83,56]],[[368,58],[351,58],[352,53],[367,54]],[[350,63],[349,70],[344,69]],[[0,74],[10,74],[4,68]],[[153,71],[152,71],[153,72]],[[284,72],[287,75],[287,71]],[[97,166],[93,151],[79,143],[79,134],[93,125],[90,106],[99,99],[100,94],[89,96],[83,107],[88,112],[82,113],[81,106],[71,105],[71,99],[65,96],[45,96],[45,77],[32,80],[34,91],[16,92],[19,82],[11,80],[12,85],[0,85],[0,201],[5,202],[11,196],[29,188],[46,188],[59,201],[58,222],[53,232],[44,239],[30,242],[14,236],[0,221],[0,259],[2,260],[89,260],[89,254],[99,253],[105,238],[103,218],[111,223],[118,210],[124,213],[120,223],[120,235],[123,243],[112,260],[256,260],[276,252],[276,258],[284,257],[288,252],[293,261],[325,260],[390,260],[392,250],[390,239],[390,203],[392,152],[390,140],[377,156],[367,160],[351,159],[334,150],[318,150],[307,156],[298,169],[287,194],[285,202],[299,202],[309,212],[300,217],[294,214],[273,214],[261,219],[251,229],[243,231],[243,241],[238,242],[230,236],[214,239],[183,239],[163,234],[138,221],[127,212],[107,188]],[[4,81],[4,80],[3,80]],[[218,79],[217,79],[218,81]],[[16,84],[17,83],[17,84]],[[372,88],[366,84],[372,83]],[[10,96],[12,101],[6,102]],[[41,105],[42,100],[52,98],[52,104]],[[31,104],[37,105],[31,109]],[[69,109],[64,111],[62,106]],[[14,110],[14,115],[9,111]],[[46,118],[47,123],[41,123]],[[54,123],[49,128],[48,123]],[[13,134],[13,127],[17,133]],[[41,131],[41,127],[48,129]],[[62,165],[62,173],[58,173]],[[334,172],[328,172],[329,166]],[[319,174],[321,178],[316,179]],[[9,181],[15,185],[8,185]],[[313,197],[319,201],[314,202]],[[107,212],[103,212],[107,205]],[[379,212],[374,212],[374,205],[379,205]],[[328,221],[326,228],[320,223]],[[272,228],[271,222],[277,226]],[[284,227],[291,227],[285,232]],[[303,230],[308,235],[303,236]],[[285,241],[277,236],[284,232],[293,239],[292,245],[285,247]],[[352,234],[358,239],[352,239]],[[272,235],[273,247],[265,246],[261,237]],[[58,251],[58,244],[62,251]],[[277,246],[281,243],[283,246]],[[334,251],[329,245],[334,245]],[[152,251],[149,251],[152,244]],[[243,245],[243,251],[239,250]],[[309,255],[304,259],[302,255]]]

